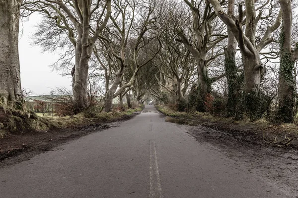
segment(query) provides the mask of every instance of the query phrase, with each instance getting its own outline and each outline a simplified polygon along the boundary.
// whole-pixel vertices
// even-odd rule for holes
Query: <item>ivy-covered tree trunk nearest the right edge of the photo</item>
[[[294,121],[295,78],[291,48],[292,7],[291,0],[280,0],[283,10],[283,26],[280,35],[280,75],[279,109],[277,120],[290,123]]]

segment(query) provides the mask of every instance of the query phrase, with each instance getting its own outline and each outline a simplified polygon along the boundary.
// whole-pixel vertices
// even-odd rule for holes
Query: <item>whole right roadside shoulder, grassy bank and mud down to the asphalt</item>
[[[276,144],[286,135],[294,137],[291,130],[264,122],[233,123],[198,114],[179,114],[165,107],[157,109],[167,115],[165,121],[184,125],[201,144],[220,148],[228,158],[246,164],[251,172],[262,175],[286,194],[298,197],[297,139],[288,146]]]

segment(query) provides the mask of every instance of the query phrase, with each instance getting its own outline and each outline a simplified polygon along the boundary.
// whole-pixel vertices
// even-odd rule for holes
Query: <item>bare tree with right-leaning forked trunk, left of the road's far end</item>
[[[113,66],[116,67],[115,78],[106,90],[106,112],[111,111],[114,98],[126,94],[130,87],[134,86],[139,70],[153,60],[161,47],[157,36],[150,33],[152,24],[156,22],[161,10],[157,4],[156,0],[114,1],[115,13],[110,17],[113,26],[107,27],[105,34],[99,36],[110,51],[106,56],[107,62],[113,62]],[[140,17],[136,18],[136,14]],[[149,45],[154,46],[151,48],[154,49],[153,53],[144,52]],[[133,75],[119,88],[127,67],[132,68]]]

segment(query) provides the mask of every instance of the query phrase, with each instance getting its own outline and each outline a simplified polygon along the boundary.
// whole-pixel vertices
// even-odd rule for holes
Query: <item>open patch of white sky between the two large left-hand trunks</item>
[[[23,22],[23,33],[19,38],[19,56],[21,67],[22,88],[30,89],[33,95],[49,94],[56,87],[67,87],[72,90],[70,76],[61,76],[49,67],[59,58],[56,53],[42,53],[41,49],[32,45],[30,37],[35,32],[34,27],[40,17],[32,15],[27,22]],[[22,25],[20,25],[20,30]],[[21,31],[20,31],[21,32]]]

